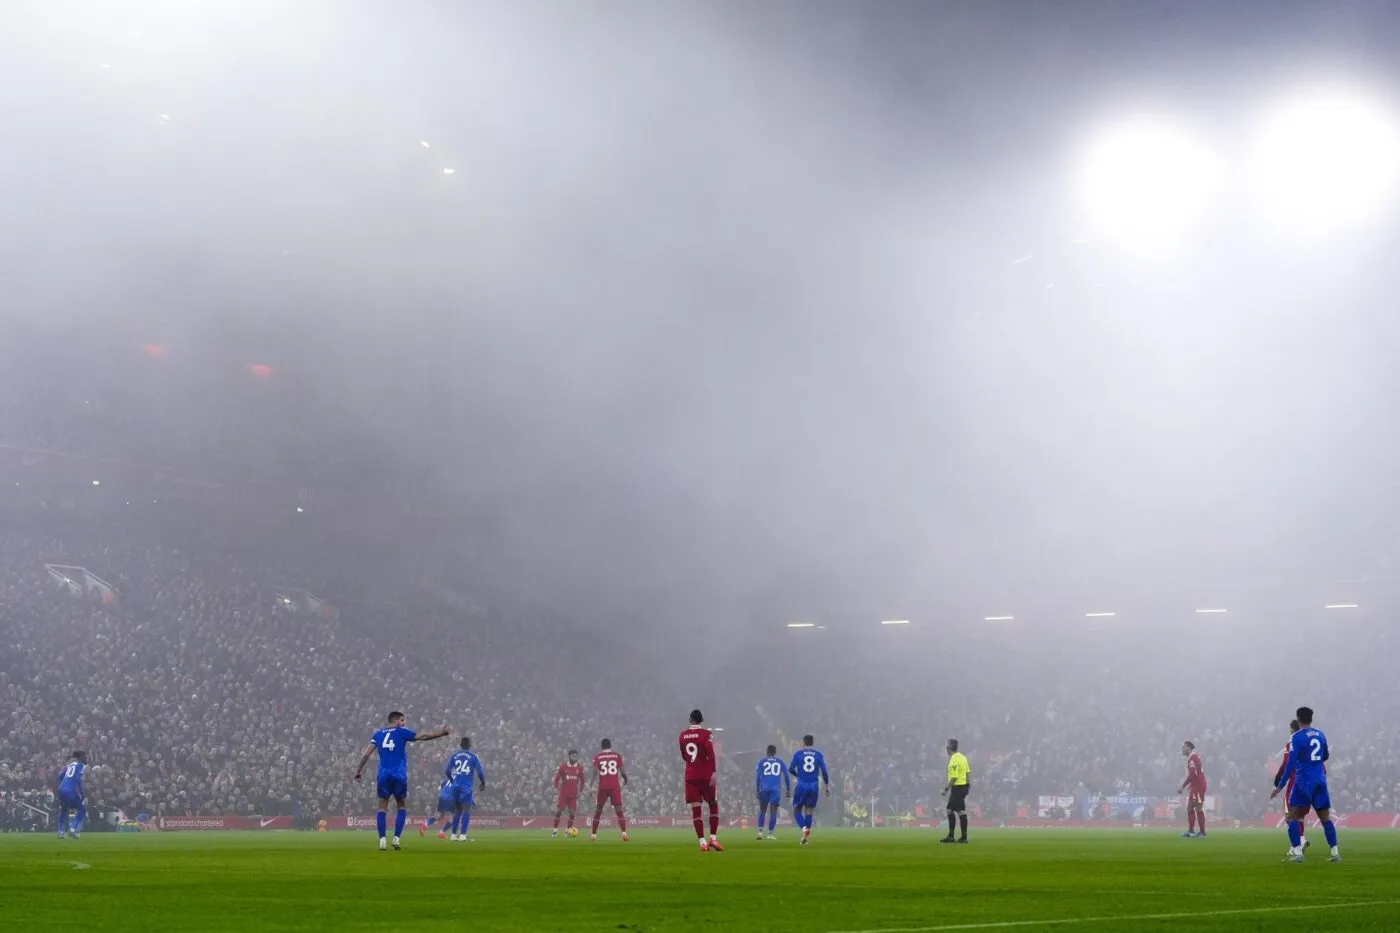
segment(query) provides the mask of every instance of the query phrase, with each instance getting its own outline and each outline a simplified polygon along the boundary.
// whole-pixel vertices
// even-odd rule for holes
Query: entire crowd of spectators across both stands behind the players
[[[118,595],[74,594],[46,562],[88,567]],[[690,703],[624,644],[388,584],[392,600],[335,614],[258,577],[130,535],[0,535],[0,825],[29,825],[78,747],[90,796],[129,813],[365,814],[372,782],[350,773],[391,709],[455,730],[413,752],[419,808],[435,800],[456,735],[483,758],[482,808],[517,815],[550,810],[564,752],[587,759],[608,735],[627,758],[630,811],[676,813],[676,710]],[[1193,644],[1144,657],[1130,636],[988,636],[958,664],[937,642],[834,633],[745,649],[713,688],[728,698],[735,752],[724,794],[746,810],[743,754],[812,731],[843,800],[876,814],[935,810],[944,741],[956,735],[973,800],[1009,817],[1044,794],[1170,796],[1190,738],[1219,811],[1259,817],[1285,723],[1309,702],[1331,738],[1336,806],[1400,810],[1385,632],[1348,632],[1296,678],[1280,677],[1298,670],[1285,639],[1235,637],[1208,657]]]

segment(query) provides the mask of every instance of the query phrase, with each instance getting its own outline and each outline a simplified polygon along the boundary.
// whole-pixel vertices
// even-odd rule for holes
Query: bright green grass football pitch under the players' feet
[[[1400,834],[1285,864],[1278,832],[818,829],[552,841],[483,831],[379,852],[372,832],[0,836],[15,930],[1400,930]],[[1320,834],[1319,834],[1320,842]]]

